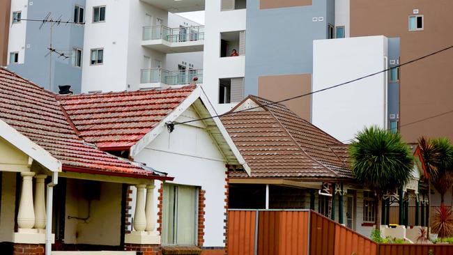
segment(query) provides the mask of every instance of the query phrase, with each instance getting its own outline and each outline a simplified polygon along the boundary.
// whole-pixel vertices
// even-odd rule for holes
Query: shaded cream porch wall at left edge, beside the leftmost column
[[[1,205],[0,205],[0,242],[13,242],[16,204],[16,174],[0,172]]]

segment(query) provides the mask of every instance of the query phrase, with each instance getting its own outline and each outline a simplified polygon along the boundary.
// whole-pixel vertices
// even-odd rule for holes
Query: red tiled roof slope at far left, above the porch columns
[[[3,68],[0,68],[0,119],[60,160],[63,171],[167,178],[165,173],[110,155],[82,140],[54,93]]]

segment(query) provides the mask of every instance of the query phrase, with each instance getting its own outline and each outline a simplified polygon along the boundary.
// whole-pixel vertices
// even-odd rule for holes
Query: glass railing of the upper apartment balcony
[[[204,40],[204,26],[187,26],[170,29],[168,26],[144,26],[143,40],[166,40],[167,42],[190,42]]]

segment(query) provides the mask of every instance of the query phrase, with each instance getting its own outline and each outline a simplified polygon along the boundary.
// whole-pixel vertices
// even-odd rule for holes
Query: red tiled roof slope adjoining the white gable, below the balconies
[[[133,146],[195,88],[68,95],[59,100],[85,141],[115,150]]]

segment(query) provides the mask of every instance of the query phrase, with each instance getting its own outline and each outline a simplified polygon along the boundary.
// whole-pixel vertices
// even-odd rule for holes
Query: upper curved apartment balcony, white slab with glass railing
[[[144,26],[141,46],[164,53],[202,52],[204,26],[178,27]]]

